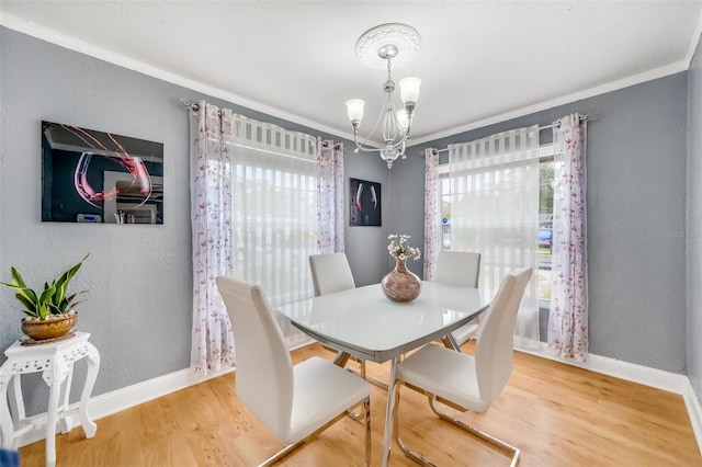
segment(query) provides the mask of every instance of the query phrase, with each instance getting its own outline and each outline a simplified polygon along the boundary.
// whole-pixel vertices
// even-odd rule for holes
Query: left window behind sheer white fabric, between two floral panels
[[[307,258],[317,251],[317,164],[230,145],[231,254],[236,277],[261,285],[272,306],[313,294]]]

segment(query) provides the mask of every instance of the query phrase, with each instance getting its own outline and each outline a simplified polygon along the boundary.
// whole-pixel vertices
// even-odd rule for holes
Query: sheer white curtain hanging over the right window
[[[492,297],[507,274],[537,271],[539,127],[450,145],[449,164],[451,249],[482,254],[480,288]],[[517,317],[517,346],[539,342],[536,283],[529,283]]]

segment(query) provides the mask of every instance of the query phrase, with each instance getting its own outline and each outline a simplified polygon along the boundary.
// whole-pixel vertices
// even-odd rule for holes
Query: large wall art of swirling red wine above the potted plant
[[[42,122],[42,220],[163,224],[163,144]]]

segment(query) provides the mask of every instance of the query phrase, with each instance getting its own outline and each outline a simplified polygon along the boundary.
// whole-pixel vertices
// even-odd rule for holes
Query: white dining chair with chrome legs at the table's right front
[[[462,412],[488,410],[512,373],[514,322],[531,275],[532,270],[524,269],[505,277],[480,324],[475,355],[429,344],[397,364],[393,389],[393,430],[397,444],[407,457],[422,465],[432,465],[400,438],[400,387],[406,386],[428,396],[430,401],[435,399]],[[519,448],[437,410],[433,403],[430,406],[441,420],[509,453],[511,466],[519,463]]]

